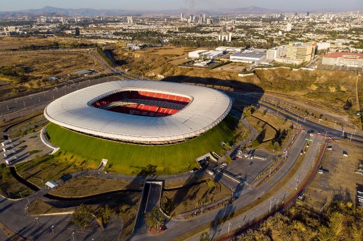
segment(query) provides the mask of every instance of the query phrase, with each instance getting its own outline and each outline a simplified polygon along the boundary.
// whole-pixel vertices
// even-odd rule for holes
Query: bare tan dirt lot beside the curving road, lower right
[[[355,173],[359,160],[362,160],[362,148],[342,142],[332,142],[333,150],[326,150],[321,167],[329,173],[316,174],[305,192],[305,201],[315,208],[321,208],[324,199],[327,205],[331,200],[345,200],[355,203],[357,185],[362,187],[363,175]],[[343,156],[343,151],[348,156]]]

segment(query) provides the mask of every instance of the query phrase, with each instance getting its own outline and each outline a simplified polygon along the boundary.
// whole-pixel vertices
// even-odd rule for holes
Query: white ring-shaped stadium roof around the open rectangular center
[[[188,97],[191,101],[179,112],[150,117],[113,112],[91,104],[121,91],[152,91]],[[226,94],[206,87],[171,82],[127,80],[83,88],[54,100],[44,110],[51,122],[89,135],[142,144],[184,141],[211,129],[232,108]]]

